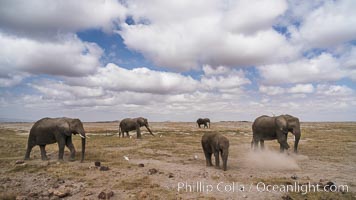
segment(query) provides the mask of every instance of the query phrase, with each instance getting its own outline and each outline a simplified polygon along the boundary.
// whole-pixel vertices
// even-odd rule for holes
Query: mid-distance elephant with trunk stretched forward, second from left
[[[141,139],[140,127],[142,126],[145,126],[148,132],[150,132],[150,134],[153,135],[152,131],[149,128],[147,119],[143,117],[138,117],[138,118],[125,118],[121,120],[119,125],[119,136],[121,136],[122,134],[122,137],[124,137],[124,133],[126,132],[127,137],[130,137],[129,131],[136,130],[137,138]]]

